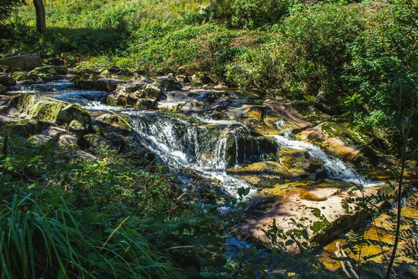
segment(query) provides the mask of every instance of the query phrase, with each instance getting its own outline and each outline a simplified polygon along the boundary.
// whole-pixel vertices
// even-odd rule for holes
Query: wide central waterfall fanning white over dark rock
[[[144,137],[150,151],[165,163],[190,167],[203,176],[217,179],[233,197],[238,197],[238,188],[242,187],[251,189],[250,196],[256,193],[245,181],[226,174],[226,137],[214,137],[208,129],[167,114],[129,112],[127,115],[132,128]]]

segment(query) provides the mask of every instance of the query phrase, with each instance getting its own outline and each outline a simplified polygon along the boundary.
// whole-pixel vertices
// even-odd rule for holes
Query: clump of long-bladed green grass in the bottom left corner
[[[137,229],[70,209],[63,198],[15,195],[0,216],[1,278],[180,277]]]

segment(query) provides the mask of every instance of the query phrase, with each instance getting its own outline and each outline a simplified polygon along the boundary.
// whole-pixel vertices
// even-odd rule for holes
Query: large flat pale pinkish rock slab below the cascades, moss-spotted
[[[269,239],[262,231],[268,230],[276,220],[277,227],[284,233],[292,230],[306,229],[309,239],[314,239],[321,232],[332,239],[336,234],[353,226],[350,215],[343,208],[343,201],[349,197],[359,197],[359,190],[352,188],[342,190],[336,188],[295,189],[285,195],[281,201],[274,204],[263,216],[256,220],[247,220],[241,227],[242,235],[259,239],[269,243]],[[332,225],[342,217],[346,217],[343,224]],[[352,216],[356,219],[356,216]],[[332,228],[332,231],[327,231]],[[284,241],[286,242],[286,240]],[[295,246],[289,247],[291,250]],[[289,249],[288,248],[288,249]]]

